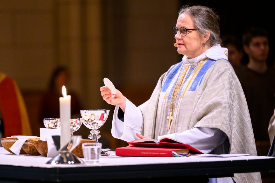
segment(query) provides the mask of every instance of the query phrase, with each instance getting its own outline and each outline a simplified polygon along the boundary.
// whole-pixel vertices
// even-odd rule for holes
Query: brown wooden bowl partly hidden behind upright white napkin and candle
[[[41,155],[47,156],[47,153],[48,153],[47,141],[38,140],[38,139],[29,139],[29,142],[34,144],[37,151]],[[92,142],[95,142],[95,140],[81,139],[78,146],[76,146],[76,148],[74,148],[74,150],[72,150],[72,153],[75,154],[76,156],[78,156],[79,158],[83,158],[82,143],[88,143],[88,142],[92,143]]]

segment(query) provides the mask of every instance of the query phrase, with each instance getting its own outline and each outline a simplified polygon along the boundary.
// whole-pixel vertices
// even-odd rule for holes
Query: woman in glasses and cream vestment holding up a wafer
[[[103,100],[116,106],[112,135],[127,142],[170,137],[203,153],[257,155],[243,90],[220,45],[218,16],[209,7],[184,6],[173,33],[184,56],[160,77],[147,102],[136,107],[119,90],[100,88]],[[261,182],[259,173],[234,174],[233,180]]]

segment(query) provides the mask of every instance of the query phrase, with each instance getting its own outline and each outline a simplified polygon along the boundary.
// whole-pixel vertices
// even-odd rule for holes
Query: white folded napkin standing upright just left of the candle
[[[61,131],[59,129],[48,129],[40,128],[40,140],[46,140],[48,146],[47,157],[54,157],[58,154],[54,141],[52,140],[53,135],[60,135]]]

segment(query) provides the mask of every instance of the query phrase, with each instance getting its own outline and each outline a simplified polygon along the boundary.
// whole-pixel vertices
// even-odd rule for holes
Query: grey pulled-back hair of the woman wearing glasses
[[[216,44],[221,44],[219,15],[207,6],[183,6],[178,16],[181,14],[188,14],[193,19],[194,29],[198,29],[201,35],[205,35],[207,31],[210,32],[210,37],[206,41],[206,45],[211,47]],[[187,27],[189,28],[189,27]]]

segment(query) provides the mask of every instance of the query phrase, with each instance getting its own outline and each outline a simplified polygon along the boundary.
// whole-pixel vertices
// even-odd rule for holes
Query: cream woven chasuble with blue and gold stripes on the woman
[[[174,92],[181,77],[184,79],[180,81],[180,89]],[[245,96],[232,66],[225,59],[192,64],[182,61],[173,65],[160,77],[151,98],[139,108],[144,136],[157,139],[196,127],[217,128],[227,135],[230,154],[257,155]],[[171,108],[173,120],[168,130]],[[234,174],[233,179],[261,182],[259,173]]]

